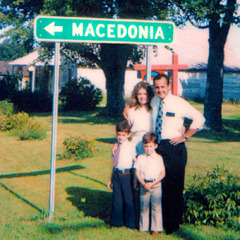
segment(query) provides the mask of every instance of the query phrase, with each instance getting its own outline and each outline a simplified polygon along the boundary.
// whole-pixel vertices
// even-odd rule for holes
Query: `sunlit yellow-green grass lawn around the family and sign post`
[[[195,106],[203,111],[202,104]],[[202,131],[188,143],[186,186],[195,174],[205,175],[216,165],[224,165],[239,175],[240,105],[223,104],[223,122],[228,131],[215,134]],[[19,141],[0,132],[0,239],[153,239],[147,233],[109,226],[111,192],[106,183],[111,172],[111,148],[115,123],[100,117],[98,111],[60,113],[57,153],[70,136],[86,136],[93,141],[94,157],[81,161],[58,160],[55,214],[51,223],[45,217],[49,202],[51,153],[51,114],[36,115],[48,128],[45,140]],[[173,235],[159,239],[239,240],[231,229],[183,225]]]

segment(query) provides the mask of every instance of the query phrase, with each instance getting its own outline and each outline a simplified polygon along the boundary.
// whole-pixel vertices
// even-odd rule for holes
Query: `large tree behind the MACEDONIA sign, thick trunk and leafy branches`
[[[2,0],[0,26],[12,26],[12,38],[27,43],[30,49],[32,20],[38,14],[51,16],[77,16],[130,19],[164,19],[168,1],[164,0]],[[15,32],[17,30],[17,32]],[[23,34],[24,33],[24,34]],[[42,44],[52,49],[52,44]],[[135,45],[124,44],[62,44],[62,52],[79,65],[100,67],[106,77],[107,105],[111,116],[122,115],[124,107],[124,76],[127,61],[138,62],[142,51]]]

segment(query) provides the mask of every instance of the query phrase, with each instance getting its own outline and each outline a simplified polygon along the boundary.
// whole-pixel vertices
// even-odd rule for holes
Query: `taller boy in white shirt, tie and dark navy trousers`
[[[116,135],[117,148],[113,153],[113,171],[108,182],[108,188],[113,190],[111,225],[135,228],[133,163],[136,151],[128,141],[130,126],[127,121],[117,124]]]

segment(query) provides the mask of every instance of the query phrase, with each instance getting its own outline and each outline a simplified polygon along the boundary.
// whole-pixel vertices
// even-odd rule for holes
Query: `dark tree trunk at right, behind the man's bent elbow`
[[[220,2],[216,8],[221,9]],[[209,15],[209,57],[207,86],[204,101],[204,116],[206,125],[212,130],[222,131],[222,102],[223,102],[223,72],[224,46],[236,10],[236,0],[229,0],[224,17],[219,11]]]

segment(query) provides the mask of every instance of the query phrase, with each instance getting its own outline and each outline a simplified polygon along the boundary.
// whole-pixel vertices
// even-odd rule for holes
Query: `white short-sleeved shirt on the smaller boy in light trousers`
[[[134,168],[141,172],[144,180],[154,180],[165,170],[162,157],[155,151],[151,155],[146,153],[138,156]]]

